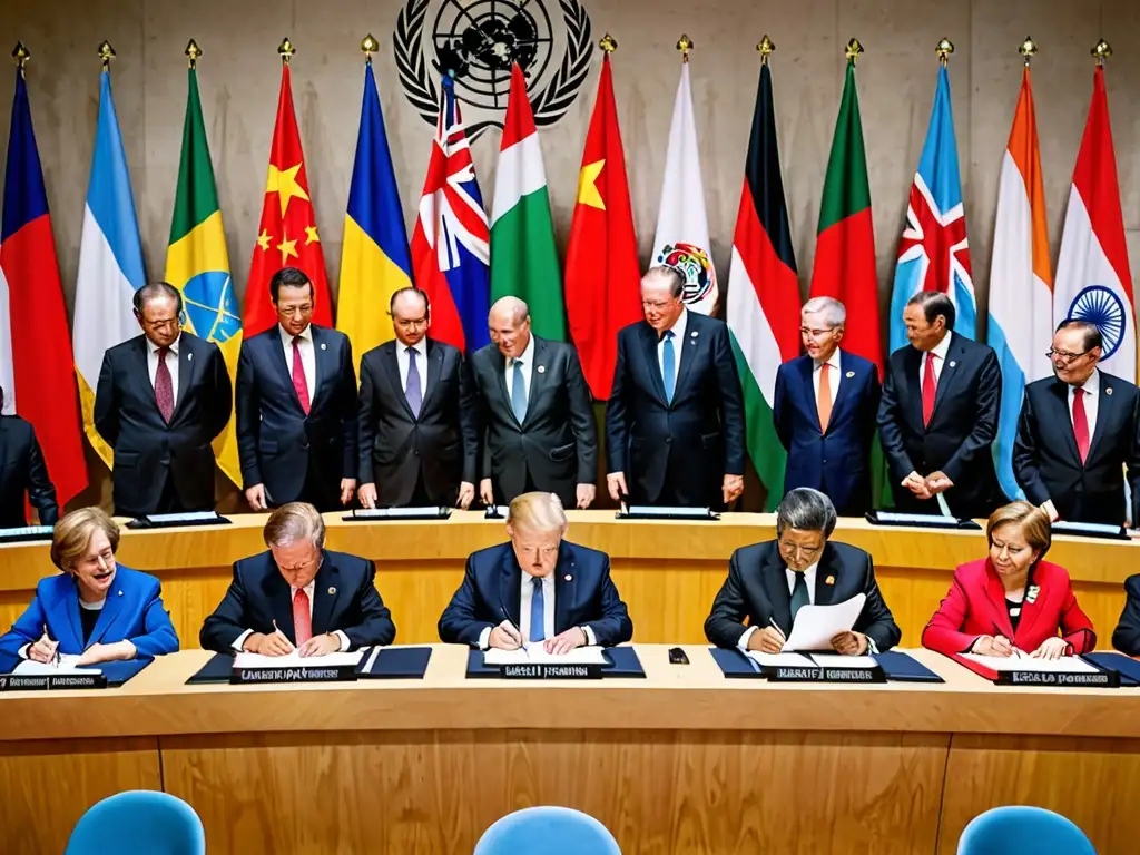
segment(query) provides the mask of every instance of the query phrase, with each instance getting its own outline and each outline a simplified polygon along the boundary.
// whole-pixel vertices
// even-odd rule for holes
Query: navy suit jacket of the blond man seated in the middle
[[[439,619],[439,637],[448,644],[477,646],[483,629],[506,618],[519,626],[522,572],[511,544],[472,553],[463,584]],[[554,632],[576,626],[588,626],[604,646],[634,635],[629,612],[610,578],[610,556],[563,540],[554,568]]]

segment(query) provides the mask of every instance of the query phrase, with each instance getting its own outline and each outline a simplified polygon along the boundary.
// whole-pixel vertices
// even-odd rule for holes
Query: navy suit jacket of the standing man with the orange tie
[[[879,412],[879,369],[863,357],[839,351],[839,391],[820,431],[809,356],[784,363],[776,369],[772,420],[788,451],[784,494],[797,487],[825,492],[845,516],[862,516],[871,510],[871,445]]]

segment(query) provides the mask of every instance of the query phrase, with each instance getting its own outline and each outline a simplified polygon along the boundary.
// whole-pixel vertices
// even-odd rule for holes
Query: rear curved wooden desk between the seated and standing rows
[[[234,561],[264,549],[264,514],[237,514],[234,524],[127,531],[119,560],[153,572],[184,646],[196,646],[202,621],[226,593]],[[503,543],[503,523],[482,512],[442,522],[344,522],[326,514],[328,547],[377,562],[376,586],[392,610],[397,640],[438,641],[435,624],[463,578],[473,551]],[[726,514],[719,522],[619,521],[610,511],[570,513],[571,540],[609,553],[613,578],[634,620],[637,643],[705,641],[703,624],[727,575],[733,549],[775,537],[773,514]],[[986,554],[980,531],[919,531],[840,520],[836,539],[874,556],[887,604],[917,646],[950,587],[958,564]],[[1140,544],[1058,537],[1049,559],[1067,568],[1097,627],[1100,646],[1124,606],[1124,579],[1137,571]],[[32,598],[36,581],[56,572],[46,544],[0,546],[0,626]]]

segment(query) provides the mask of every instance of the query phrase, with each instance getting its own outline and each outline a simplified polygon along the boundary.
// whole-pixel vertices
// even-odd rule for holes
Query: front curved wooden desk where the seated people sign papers
[[[0,838],[59,852],[91,804],[164,789],[211,853],[470,853],[513,809],[597,816],[632,853],[952,855],[1000,804],[1070,816],[1134,852],[1140,692],[997,689],[929,652],[944,685],[725,679],[705,646],[645,679],[185,686],[185,651],[120,690],[0,698]]]

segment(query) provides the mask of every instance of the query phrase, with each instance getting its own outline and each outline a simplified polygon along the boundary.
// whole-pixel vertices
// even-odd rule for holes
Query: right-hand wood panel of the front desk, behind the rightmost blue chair
[[[1140,740],[955,735],[943,799],[939,855],[978,814],[1035,805],[1075,822],[1100,855],[1133,855],[1140,839]]]

